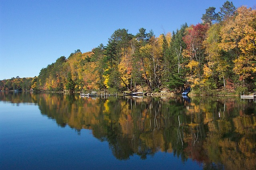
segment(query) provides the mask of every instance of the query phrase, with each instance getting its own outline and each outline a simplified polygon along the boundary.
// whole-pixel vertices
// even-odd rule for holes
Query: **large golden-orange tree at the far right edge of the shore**
[[[221,30],[221,47],[236,51],[234,72],[240,80],[256,75],[256,10],[242,6],[237,14],[225,21]]]

